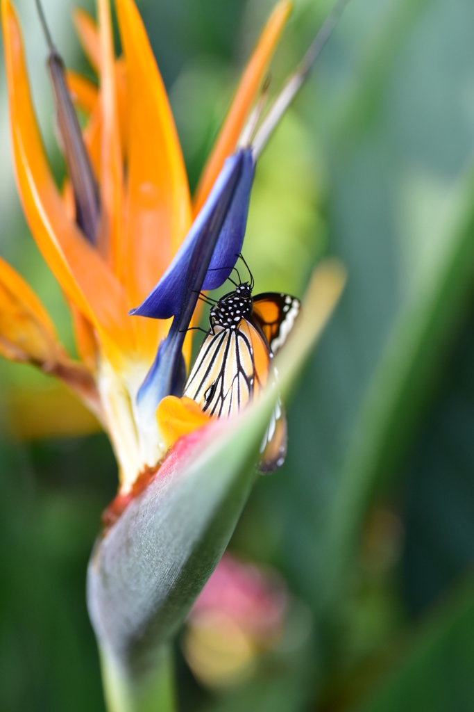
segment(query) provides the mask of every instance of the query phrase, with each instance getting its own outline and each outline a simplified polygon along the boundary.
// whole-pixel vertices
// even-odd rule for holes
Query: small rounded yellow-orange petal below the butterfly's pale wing
[[[156,409],[156,422],[167,447],[182,435],[188,435],[211,422],[191,398],[166,396]]]

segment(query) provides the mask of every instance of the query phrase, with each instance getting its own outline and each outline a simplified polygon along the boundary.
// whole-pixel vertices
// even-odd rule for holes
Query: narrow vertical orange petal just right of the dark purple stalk
[[[102,137],[100,155],[101,224],[97,246],[117,274],[122,244],[123,169],[120,145],[114,38],[109,0],[97,0],[100,39],[100,105]],[[119,275],[120,278],[120,275]]]

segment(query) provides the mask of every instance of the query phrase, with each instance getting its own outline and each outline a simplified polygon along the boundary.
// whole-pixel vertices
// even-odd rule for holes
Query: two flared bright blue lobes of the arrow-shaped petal
[[[234,186],[236,172],[239,172],[239,177],[237,186]],[[207,201],[193,222],[171,265],[141,305],[129,312],[131,315],[168,319],[178,314],[183,305],[183,293],[195,246],[203,231],[209,229],[212,216],[222,201],[229,199],[229,191],[232,189],[232,201],[217,238],[209,271],[205,276],[204,283],[198,285],[197,288],[215,289],[226,281],[237,261],[239,252],[242,250],[253,178],[254,162],[251,150],[240,150],[227,158]]]

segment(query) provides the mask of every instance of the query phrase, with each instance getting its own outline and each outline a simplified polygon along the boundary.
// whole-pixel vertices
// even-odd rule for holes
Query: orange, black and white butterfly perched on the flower
[[[278,292],[252,296],[250,282],[212,303],[210,329],[185,384],[183,395],[214,417],[230,417],[247,405],[267,382],[276,382],[272,363],[300,310],[296,297]],[[286,456],[286,415],[276,403],[261,449],[259,469],[271,472]]]

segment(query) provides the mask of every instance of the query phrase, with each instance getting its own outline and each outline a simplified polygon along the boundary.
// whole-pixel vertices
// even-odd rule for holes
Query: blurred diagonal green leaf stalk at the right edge
[[[367,506],[399,464],[465,315],[474,278],[473,194],[471,173],[454,191],[441,245],[406,295],[362,401],[330,517],[326,602],[340,590]]]

